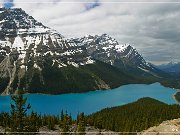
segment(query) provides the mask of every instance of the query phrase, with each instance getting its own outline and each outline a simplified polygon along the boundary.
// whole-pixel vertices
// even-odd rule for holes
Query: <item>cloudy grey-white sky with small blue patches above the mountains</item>
[[[67,38],[107,33],[153,64],[180,61],[180,0],[1,0]]]

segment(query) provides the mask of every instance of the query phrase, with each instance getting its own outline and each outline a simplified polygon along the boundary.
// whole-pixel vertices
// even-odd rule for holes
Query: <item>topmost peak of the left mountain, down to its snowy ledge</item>
[[[21,8],[1,8],[0,28],[1,37],[16,37],[18,34],[42,33],[49,30]]]

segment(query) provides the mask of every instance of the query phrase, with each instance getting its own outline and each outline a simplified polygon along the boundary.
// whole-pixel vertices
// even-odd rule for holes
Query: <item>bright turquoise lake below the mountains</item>
[[[41,114],[59,114],[67,110],[73,117],[78,112],[91,114],[106,107],[120,106],[139,98],[151,97],[168,104],[175,104],[173,94],[177,90],[166,88],[159,83],[151,85],[130,84],[113,90],[92,91],[80,94],[43,95],[28,94],[32,110]],[[0,96],[0,111],[10,110],[10,96]]]

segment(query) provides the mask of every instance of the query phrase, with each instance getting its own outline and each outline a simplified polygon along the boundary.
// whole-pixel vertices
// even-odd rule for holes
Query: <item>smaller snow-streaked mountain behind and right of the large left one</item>
[[[143,72],[155,74],[155,67],[147,63],[144,58],[130,44],[121,45],[116,39],[107,34],[101,36],[85,36],[71,39],[79,46],[85,46],[88,54],[94,59],[103,61],[121,69],[136,68]]]

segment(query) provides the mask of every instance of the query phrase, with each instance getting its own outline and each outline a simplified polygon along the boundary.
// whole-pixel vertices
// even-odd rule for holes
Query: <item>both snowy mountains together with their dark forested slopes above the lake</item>
[[[20,8],[0,8],[0,93],[61,94],[153,83],[167,73],[107,34],[67,39]]]

